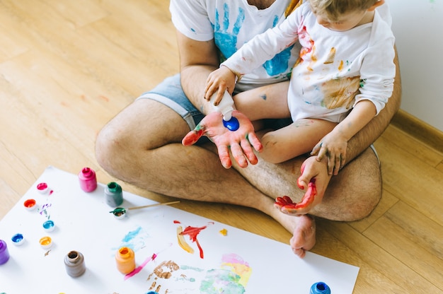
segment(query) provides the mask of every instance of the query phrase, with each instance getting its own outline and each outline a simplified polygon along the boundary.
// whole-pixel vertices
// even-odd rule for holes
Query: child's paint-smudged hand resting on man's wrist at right
[[[326,155],[328,158],[328,174],[338,175],[338,171],[345,166],[346,148],[347,140],[331,132],[313,147],[311,155],[317,155],[318,161],[321,161]]]

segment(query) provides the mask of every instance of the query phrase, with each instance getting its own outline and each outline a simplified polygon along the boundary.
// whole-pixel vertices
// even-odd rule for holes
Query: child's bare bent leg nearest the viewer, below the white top
[[[336,125],[323,119],[300,119],[282,129],[258,134],[263,135],[260,157],[270,163],[282,163],[310,152]]]

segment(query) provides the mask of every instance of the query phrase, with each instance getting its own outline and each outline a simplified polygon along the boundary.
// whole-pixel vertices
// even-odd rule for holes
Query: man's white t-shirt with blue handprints
[[[224,61],[255,35],[282,23],[289,2],[278,0],[260,10],[246,0],[171,0],[170,11],[176,29],[186,37],[197,41],[214,39]],[[287,81],[299,49],[299,45],[289,46],[263,61],[242,78],[236,89]]]

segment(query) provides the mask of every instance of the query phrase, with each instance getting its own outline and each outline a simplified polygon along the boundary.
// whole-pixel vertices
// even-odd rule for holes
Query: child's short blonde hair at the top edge
[[[369,9],[379,0],[309,0],[313,13],[326,14],[331,20],[344,13]]]

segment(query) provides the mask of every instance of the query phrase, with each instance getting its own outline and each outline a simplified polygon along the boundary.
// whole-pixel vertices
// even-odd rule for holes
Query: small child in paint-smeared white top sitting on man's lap
[[[254,37],[209,74],[205,98],[235,87],[243,74],[299,42],[286,102],[248,101],[249,118],[292,117],[292,124],[267,132],[261,157],[281,163],[311,151],[328,157],[328,172],[345,164],[347,141],[383,108],[393,90],[396,67],[390,25],[376,7],[384,0],[309,0],[281,25]],[[245,102],[242,101],[243,105]],[[267,107],[262,115],[255,110]],[[261,107],[261,108],[260,108]]]

